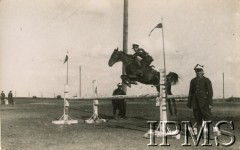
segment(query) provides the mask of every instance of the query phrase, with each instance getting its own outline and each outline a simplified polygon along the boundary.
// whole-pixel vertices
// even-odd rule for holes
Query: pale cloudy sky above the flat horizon
[[[239,0],[128,0],[128,53],[139,44],[163,69],[163,23],[167,72],[180,75],[173,94],[188,94],[196,64],[204,65],[214,98],[240,96]],[[161,20],[161,18],[163,20]],[[123,0],[1,0],[0,90],[16,96],[62,95],[69,56],[70,96],[111,95],[119,83],[121,63],[108,66],[123,45]],[[128,94],[155,93],[150,85],[133,85]]]

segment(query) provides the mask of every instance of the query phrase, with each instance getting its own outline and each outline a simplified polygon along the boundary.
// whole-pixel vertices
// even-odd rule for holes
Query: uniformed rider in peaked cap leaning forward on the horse
[[[140,74],[143,75],[143,70],[152,63],[153,58],[144,49],[139,48],[137,44],[133,44],[133,50],[135,51],[133,54],[134,57],[139,56],[142,58],[138,65],[141,68]]]

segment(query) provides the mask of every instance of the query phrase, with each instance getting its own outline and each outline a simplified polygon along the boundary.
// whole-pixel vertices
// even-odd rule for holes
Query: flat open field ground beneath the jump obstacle
[[[77,119],[78,124],[53,125],[63,114],[63,101],[22,99],[15,100],[16,105],[1,106],[1,148],[2,150],[157,150],[157,149],[233,149],[240,150],[240,103],[215,103],[213,122],[220,120],[233,121],[235,130],[228,126],[226,130],[234,133],[236,142],[230,147],[215,146],[181,146],[180,140],[170,138],[171,146],[149,147],[149,139],[144,137],[148,131],[147,121],[159,120],[159,109],[154,101],[128,101],[126,120],[112,119],[110,101],[100,101],[99,113],[106,123],[86,124],[85,119],[92,115],[91,101],[70,101],[70,117]],[[193,121],[192,111],[186,108],[185,102],[178,102],[179,114],[169,117],[174,121]],[[182,126],[183,127],[183,126]],[[220,142],[229,142],[229,137],[221,136]],[[193,143],[191,139],[190,143]],[[160,144],[161,138],[156,139]],[[200,145],[203,141],[200,141]]]

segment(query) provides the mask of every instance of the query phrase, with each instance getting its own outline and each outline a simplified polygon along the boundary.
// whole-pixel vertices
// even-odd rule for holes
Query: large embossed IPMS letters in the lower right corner
[[[157,130],[155,130],[156,124],[158,123],[157,121],[148,121],[147,123],[150,124],[150,130],[147,133],[150,136],[148,146],[170,146],[167,141],[169,136],[175,136],[180,139],[181,125],[176,121],[160,121]],[[191,146],[189,137],[192,138],[195,146],[199,146],[200,141],[203,141],[201,146],[212,146],[212,143],[210,143],[211,138],[214,138],[211,139],[211,141],[215,141],[216,146],[221,145],[227,147],[235,143],[236,138],[234,134],[229,131],[234,130],[232,121],[219,121],[213,129],[210,130],[209,126],[211,123],[211,121],[203,121],[201,128],[197,131],[197,128],[193,127],[190,121],[182,121],[181,124],[184,126],[184,143],[182,146]],[[169,125],[174,125],[176,127],[175,130],[170,131]],[[228,131],[223,130],[221,127],[227,128]],[[159,136],[162,137],[162,143],[156,144],[155,138]],[[225,136],[228,142],[222,142],[219,139],[220,136]]]

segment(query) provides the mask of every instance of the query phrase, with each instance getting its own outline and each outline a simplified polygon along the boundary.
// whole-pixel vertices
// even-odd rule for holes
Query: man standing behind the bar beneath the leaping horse
[[[118,83],[117,89],[113,91],[113,95],[126,95],[126,93],[122,90],[122,84]],[[124,99],[113,99],[112,105],[113,105],[113,116],[114,119],[117,119],[117,117],[124,118]],[[117,116],[117,109],[119,110],[118,116]]]

